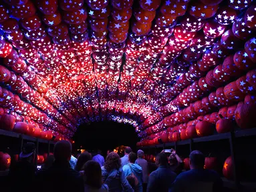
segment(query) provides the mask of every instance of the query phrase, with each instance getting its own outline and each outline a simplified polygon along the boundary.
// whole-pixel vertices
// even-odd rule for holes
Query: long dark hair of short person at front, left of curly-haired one
[[[102,187],[102,169],[97,161],[87,161],[84,164],[84,183],[96,189]]]

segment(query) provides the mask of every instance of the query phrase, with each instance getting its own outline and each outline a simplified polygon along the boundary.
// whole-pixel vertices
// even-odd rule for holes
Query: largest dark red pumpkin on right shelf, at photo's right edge
[[[241,129],[250,129],[256,126],[256,105],[243,104],[235,110],[235,121]]]

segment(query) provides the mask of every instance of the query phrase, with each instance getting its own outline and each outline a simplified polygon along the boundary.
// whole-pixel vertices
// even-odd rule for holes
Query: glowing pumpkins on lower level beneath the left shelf
[[[49,153],[53,155],[53,153]],[[48,154],[43,153],[43,155],[37,155],[37,165],[41,165],[47,159]],[[13,155],[13,160],[17,162],[19,160],[19,155]],[[35,159],[34,159],[35,160]],[[11,165],[11,156],[8,153],[3,153],[0,151],[0,171],[6,171]]]

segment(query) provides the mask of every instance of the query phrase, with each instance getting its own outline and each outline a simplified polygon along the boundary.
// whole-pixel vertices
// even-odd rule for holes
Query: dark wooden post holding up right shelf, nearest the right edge
[[[229,135],[229,145],[230,145],[230,152],[231,152],[231,157],[233,161],[233,175],[234,175],[234,181],[235,181],[235,186],[236,186],[236,191],[239,191],[239,174],[237,173],[237,162],[236,162],[236,153],[235,153],[235,133],[232,131],[230,132]]]

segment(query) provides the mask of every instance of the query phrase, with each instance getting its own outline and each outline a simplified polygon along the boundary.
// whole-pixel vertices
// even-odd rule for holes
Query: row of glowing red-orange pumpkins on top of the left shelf
[[[37,124],[38,125],[38,124]],[[0,129],[7,131],[14,131],[15,133],[21,133],[24,135],[29,135],[32,137],[37,137],[40,139],[51,140],[53,135],[55,136],[54,141],[68,140],[65,137],[57,134],[53,134],[53,131],[44,131],[43,127],[39,127],[36,124],[28,123],[27,121],[15,121],[13,115],[3,113],[0,115]]]

